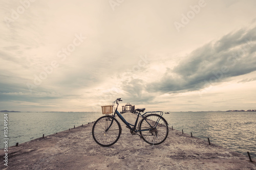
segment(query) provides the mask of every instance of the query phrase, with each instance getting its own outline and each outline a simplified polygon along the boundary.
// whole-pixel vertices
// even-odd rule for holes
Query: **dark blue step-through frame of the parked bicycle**
[[[117,101],[115,101],[115,102],[117,103]],[[113,103],[115,103],[115,102],[113,102]],[[141,115],[140,113],[138,113],[138,116],[137,116],[137,118],[136,118],[135,125],[132,125],[132,124],[130,124],[129,122],[127,122],[127,121],[124,119],[124,117],[118,112],[118,110],[117,110],[118,105],[119,105],[119,104],[117,103],[117,107],[116,107],[116,109],[115,109],[115,113],[114,113],[113,117],[115,117],[115,116],[117,115],[117,116],[122,120],[122,122],[126,125],[126,127],[129,128],[132,132],[149,131],[149,130],[152,130],[152,129],[154,128],[154,127],[152,127],[151,124],[148,123],[147,120],[145,119],[145,121],[148,123],[148,125],[151,126],[151,129],[136,130],[139,116],[141,116],[142,118],[144,118],[144,117],[145,117],[144,115],[146,115],[146,114],[148,114],[148,113],[157,113],[157,112],[160,113],[160,116],[161,116],[161,117],[162,117],[162,115],[163,115],[163,112],[162,112],[162,111],[145,112],[145,113],[142,114],[142,115]],[[160,118],[161,118],[161,117],[160,117]],[[160,118],[157,119],[157,122],[156,122],[156,124],[155,124],[155,127],[158,125]],[[113,121],[114,121],[114,120],[112,119],[109,128],[112,126]],[[132,128],[131,126],[132,126],[133,128]],[[106,129],[105,131],[108,131],[109,128]]]

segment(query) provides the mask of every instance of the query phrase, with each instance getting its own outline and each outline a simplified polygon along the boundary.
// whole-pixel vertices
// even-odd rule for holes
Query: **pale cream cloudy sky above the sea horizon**
[[[256,109],[255,6],[2,0],[0,110]]]

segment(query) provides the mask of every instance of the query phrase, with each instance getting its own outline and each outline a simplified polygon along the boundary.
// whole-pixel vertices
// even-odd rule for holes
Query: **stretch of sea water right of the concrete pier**
[[[170,127],[256,158],[256,112],[170,112]]]

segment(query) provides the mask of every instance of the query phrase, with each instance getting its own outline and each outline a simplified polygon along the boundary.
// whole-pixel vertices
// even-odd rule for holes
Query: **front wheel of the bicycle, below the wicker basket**
[[[111,124],[112,120],[113,123]],[[109,130],[106,131],[108,128]],[[112,116],[102,116],[94,123],[92,133],[94,140],[99,145],[109,147],[119,139],[121,126],[116,118]]]

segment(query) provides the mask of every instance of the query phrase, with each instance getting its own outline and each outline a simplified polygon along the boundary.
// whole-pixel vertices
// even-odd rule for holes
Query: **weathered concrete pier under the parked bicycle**
[[[136,115],[123,116],[135,122]],[[248,157],[172,130],[171,123],[167,139],[154,148],[120,123],[122,134],[111,147],[94,141],[92,123],[67,127],[66,131],[10,147],[8,167],[1,161],[0,169],[256,169]],[[2,160],[4,154],[1,150]]]

